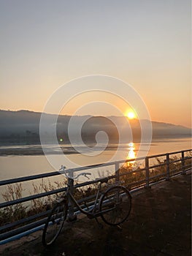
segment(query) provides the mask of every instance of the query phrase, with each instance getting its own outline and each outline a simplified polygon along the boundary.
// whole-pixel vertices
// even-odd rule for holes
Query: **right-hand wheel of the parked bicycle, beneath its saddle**
[[[99,203],[101,218],[108,225],[123,223],[131,211],[131,195],[123,186],[114,186],[104,192]]]

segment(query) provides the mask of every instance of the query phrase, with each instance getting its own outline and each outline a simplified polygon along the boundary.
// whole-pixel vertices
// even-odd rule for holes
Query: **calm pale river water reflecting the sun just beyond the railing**
[[[67,154],[66,157],[69,160],[65,159],[62,155],[53,155],[55,161],[58,163],[57,168],[61,167],[61,165],[66,165],[66,167],[75,167],[78,165],[94,165],[104,162],[110,162],[112,155],[115,153],[114,145],[104,151],[102,154],[99,154],[96,157],[85,157],[82,154]],[[0,148],[1,149],[1,148]],[[139,149],[139,143],[128,143],[124,145],[120,145],[120,150],[118,151],[118,159],[131,159],[137,156],[137,152]],[[154,140],[150,145],[150,150],[148,152],[149,155],[154,154],[164,154],[172,151],[182,151],[185,149],[191,149],[191,138],[178,138],[178,139],[169,139],[169,140]],[[22,176],[31,176],[39,173],[47,173],[51,172],[55,169],[50,162],[48,162],[47,158],[44,155],[36,155],[36,156],[7,156],[0,157],[0,180],[9,179],[9,178],[18,178]],[[105,176],[107,171],[112,172],[110,167],[99,167],[96,169],[92,169],[93,173],[91,179],[97,178],[99,176]],[[54,181],[61,181],[61,176],[57,176],[54,178],[50,178],[50,182],[54,183]],[[35,181],[40,182],[40,181]],[[32,181],[25,182],[25,189],[31,191]],[[4,191],[5,188],[0,189],[0,193]],[[25,192],[24,194],[28,195],[31,192]],[[0,195],[1,197],[1,195]]]

